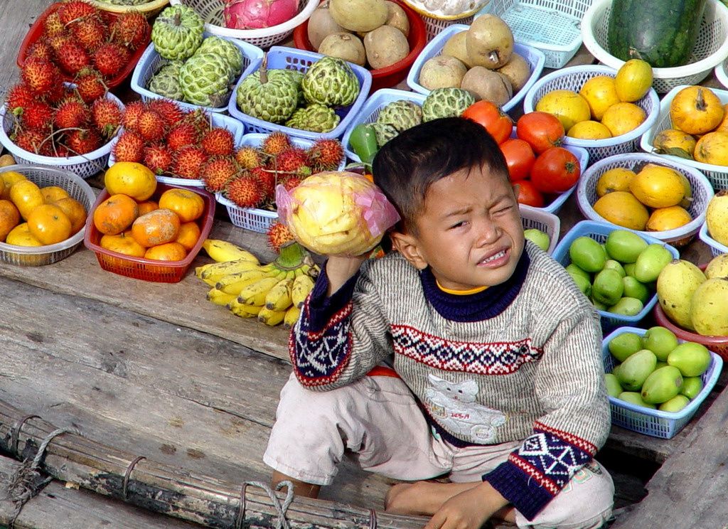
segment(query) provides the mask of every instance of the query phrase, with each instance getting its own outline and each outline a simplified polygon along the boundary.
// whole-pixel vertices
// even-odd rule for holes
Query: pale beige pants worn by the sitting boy
[[[296,480],[331,485],[348,450],[363,469],[397,480],[448,474],[453,482],[475,482],[519,445],[457,448],[439,439],[399,378],[366,376],[317,392],[291,375],[281,391],[263,461]],[[534,520],[516,512],[516,522],[519,528],[596,529],[612,514],[613,498],[612,477],[593,460]]]

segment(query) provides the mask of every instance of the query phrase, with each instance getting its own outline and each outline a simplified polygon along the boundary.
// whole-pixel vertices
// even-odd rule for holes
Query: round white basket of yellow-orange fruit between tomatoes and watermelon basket
[[[609,66],[582,65],[570,66],[569,68],[562,68],[548,73],[536,81],[529,92],[526,93],[526,97],[523,98],[523,111],[525,113],[533,112],[539,100],[552,90],[572,90],[578,93],[588,79],[601,75],[614,77],[617,76],[617,71]],[[657,92],[651,88],[635,104],[644,110],[646,114],[644,122],[636,129],[604,140],[581,140],[565,136],[563,138],[564,146],[572,145],[585,148],[589,151],[591,163],[614,154],[637,151],[639,138],[657,120],[657,114],[660,113],[660,98],[657,96]]]

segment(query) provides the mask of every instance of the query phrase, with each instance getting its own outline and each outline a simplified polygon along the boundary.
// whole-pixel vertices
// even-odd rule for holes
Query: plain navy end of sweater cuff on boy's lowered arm
[[[490,483],[526,520],[533,520],[554,497],[511,461],[505,461],[484,474],[483,481]]]

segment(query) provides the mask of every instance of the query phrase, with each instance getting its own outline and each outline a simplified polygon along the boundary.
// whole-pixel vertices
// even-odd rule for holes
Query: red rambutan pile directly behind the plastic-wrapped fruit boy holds
[[[293,189],[307,176],[336,170],[343,161],[344,148],[339,140],[322,138],[302,148],[285,132],[276,131],[266,135],[259,146],[238,148],[232,160],[224,162],[234,170],[209,174],[203,170],[202,180],[207,191],[221,192],[238,207],[274,211],[278,184]]]

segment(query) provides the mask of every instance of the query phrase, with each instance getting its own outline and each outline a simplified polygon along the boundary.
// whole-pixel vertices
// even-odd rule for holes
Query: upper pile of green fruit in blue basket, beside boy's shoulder
[[[649,244],[633,231],[616,229],[604,244],[577,237],[569,258],[566,271],[598,310],[635,316],[654,295],[654,282],[673,254],[664,244]]]

